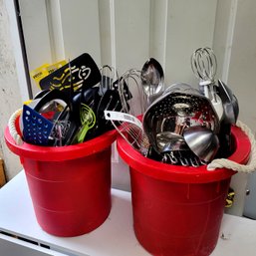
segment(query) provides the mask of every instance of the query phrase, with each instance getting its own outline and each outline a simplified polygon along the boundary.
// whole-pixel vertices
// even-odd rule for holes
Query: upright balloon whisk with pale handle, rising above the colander
[[[199,89],[204,96],[210,99],[219,120],[223,117],[221,99],[216,94],[215,75],[217,71],[217,59],[211,48],[199,48],[191,56],[191,68],[199,79]]]

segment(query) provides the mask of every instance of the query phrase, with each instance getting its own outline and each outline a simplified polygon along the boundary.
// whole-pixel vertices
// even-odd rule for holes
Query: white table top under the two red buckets
[[[16,236],[0,233],[0,255],[148,256],[133,233],[130,193],[112,189],[112,199],[111,214],[98,229],[78,237],[56,237],[38,225],[21,171],[0,189],[0,231]],[[211,256],[224,255],[256,255],[255,220],[224,215],[220,238]]]

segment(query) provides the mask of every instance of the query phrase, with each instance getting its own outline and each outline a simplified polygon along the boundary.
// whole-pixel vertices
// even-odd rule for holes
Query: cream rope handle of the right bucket
[[[212,160],[207,165],[207,170],[211,171],[211,170],[215,170],[216,168],[227,168],[227,169],[232,169],[235,171],[245,172],[245,173],[250,173],[256,170],[256,141],[255,141],[254,135],[251,129],[248,128],[241,121],[237,121],[236,127],[241,128],[250,140],[251,154],[250,154],[250,159],[248,163],[240,164],[226,158],[219,158],[219,159]]]

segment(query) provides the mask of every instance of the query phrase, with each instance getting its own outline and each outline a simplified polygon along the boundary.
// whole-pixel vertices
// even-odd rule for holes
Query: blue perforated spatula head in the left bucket
[[[29,106],[23,106],[23,139],[32,144],[47,145],[54,124]]]

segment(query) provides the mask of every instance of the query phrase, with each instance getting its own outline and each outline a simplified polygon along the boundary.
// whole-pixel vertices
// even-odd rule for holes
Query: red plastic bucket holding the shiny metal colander
[[[248,137],[232,128],[229,159],[246,163]],[[207,171],[143,157],[121,136],[118,150],[128,163],[133,228],[139,243],[160,256],[206,256],[216,246],[231,176],[229,169]]]

